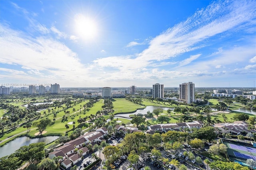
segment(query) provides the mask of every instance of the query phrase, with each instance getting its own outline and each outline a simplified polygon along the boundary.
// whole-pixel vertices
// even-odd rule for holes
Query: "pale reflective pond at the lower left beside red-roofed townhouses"
[[[28,146],[29,144],[38,143],[38,142],[50,143],[59,137],[60,136],[46,136],[46,137],[42,137],[42,138],[33,138],[32,139],[27,136],[23,136],[20,138],[16,138],[16,139],[8,142],[4,146],[0,147],[0,158],[14,153],[21,146]]]

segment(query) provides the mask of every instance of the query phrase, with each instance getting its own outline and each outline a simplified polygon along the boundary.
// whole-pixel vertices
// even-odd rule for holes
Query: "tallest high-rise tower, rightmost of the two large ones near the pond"
[[[195,84],[192,82],[180,85],[180,99],[188,104],[195,101]]]

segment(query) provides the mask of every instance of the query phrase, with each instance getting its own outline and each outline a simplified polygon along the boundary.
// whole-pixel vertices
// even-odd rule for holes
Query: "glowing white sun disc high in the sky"
[[[76,32],[84,39],[92,39],[97,34],[97,26],[94,20],[87,18],[82,14],[75,16]]]

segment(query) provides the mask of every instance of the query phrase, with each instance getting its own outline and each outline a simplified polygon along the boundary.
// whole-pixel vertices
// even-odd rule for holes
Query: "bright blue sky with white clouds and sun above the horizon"
[[[255,0],[0,1],[0,84],[254,87]]]

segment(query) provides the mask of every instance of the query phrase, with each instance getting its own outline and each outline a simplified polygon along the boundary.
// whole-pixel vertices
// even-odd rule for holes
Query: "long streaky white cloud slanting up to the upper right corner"
[[[214,2],[151,40],[140,57],[160,61],[202,48],[205,40],[231,29],[243,30],[243,24],[253,24],[254,7],[255,2]]]

